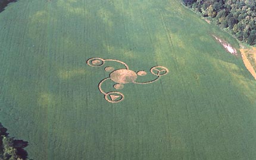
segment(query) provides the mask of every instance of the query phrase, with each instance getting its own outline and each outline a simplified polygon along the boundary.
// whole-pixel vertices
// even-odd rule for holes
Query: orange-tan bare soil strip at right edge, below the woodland
[[[245,63],[246,68],[256,80],[256,47],[252,47],[252,49],[240,49],[240,52],[243,63]]]

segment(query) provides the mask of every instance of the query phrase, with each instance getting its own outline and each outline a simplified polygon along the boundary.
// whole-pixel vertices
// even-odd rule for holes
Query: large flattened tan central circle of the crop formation
[[[118,69],[110,73],[110,78],[118,84],[129,84],[135,82],[137,74],[128,69]]]

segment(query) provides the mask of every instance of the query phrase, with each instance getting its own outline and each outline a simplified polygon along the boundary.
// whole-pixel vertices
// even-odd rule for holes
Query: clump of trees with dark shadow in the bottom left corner
[[[27,159],[28,154],[24,148],[29,145],[29,142],[17,140],[8,135],[7,129],[0,123],[0,159],[9,156]]]

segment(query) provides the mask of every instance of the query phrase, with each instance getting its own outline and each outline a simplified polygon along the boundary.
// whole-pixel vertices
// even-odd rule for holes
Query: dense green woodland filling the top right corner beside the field
[[[182,0],[203,17],[232,33],[238,40],[256,44],[255,0]]]

